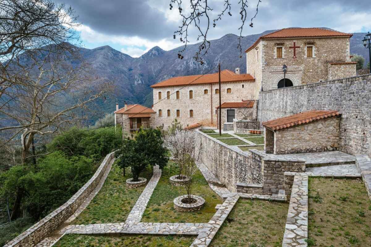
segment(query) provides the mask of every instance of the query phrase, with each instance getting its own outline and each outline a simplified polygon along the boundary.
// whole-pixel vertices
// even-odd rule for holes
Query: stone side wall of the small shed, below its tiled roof
[[[274,154],[315,153],[339,150],[340,118],[328,117],[276,130]]]

